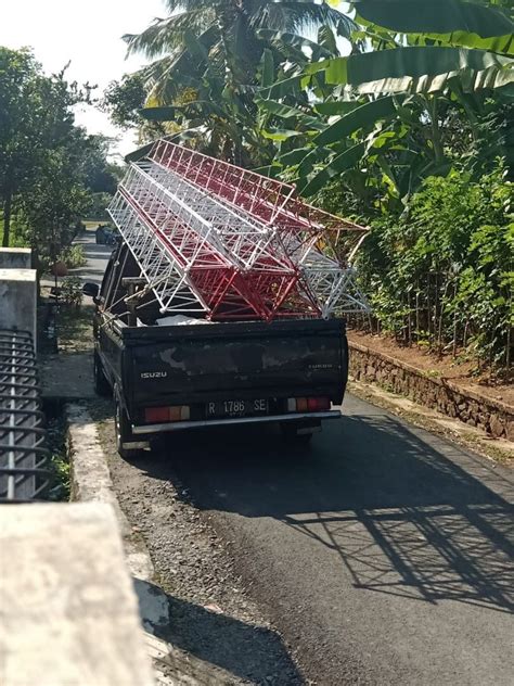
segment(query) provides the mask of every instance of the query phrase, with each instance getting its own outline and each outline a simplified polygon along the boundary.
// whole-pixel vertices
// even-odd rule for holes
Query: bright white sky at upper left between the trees
[[[100,92],[144,63],[126,60],[121,36],[141,33],[166,14],[162,0],[0,0],[0,46],[33,48],[48,73],[70,61],[68,80],[98,84]],[[120,137],[114,147],[120,154],[137,147],[133,132],[124,134],[92,106],[80,107],[76,120],[91,134]]]

